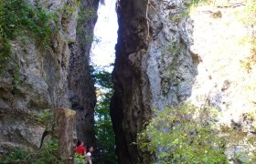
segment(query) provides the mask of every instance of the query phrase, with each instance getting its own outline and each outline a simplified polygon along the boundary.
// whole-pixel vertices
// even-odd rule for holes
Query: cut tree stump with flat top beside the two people
[[[65,163],[73,163],[77,139],[76,112],[68,108],[56,108],[55,122],[55,131],[59,138],[59,155],[65,159]]]

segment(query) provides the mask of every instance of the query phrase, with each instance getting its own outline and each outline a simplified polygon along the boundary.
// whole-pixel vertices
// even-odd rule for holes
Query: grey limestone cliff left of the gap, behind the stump
[[[92,40],[86,35],[92,35],[96,12],[80,22],[80,27],[77,25],[80,11],[96,11],[98,2],[82,0],[79,7],[73,0],[27,1],[33,7],[58,12],[56,25],[49,26],[58,26],[59,32],[47,49],[38,48],[32,39],[21,42],[18,37],[11,41],[17,67],[8,69],[0,78],[0,152],[10,146],[38,148],[45,127],[37,123],[37,118],[45,109],[57,107],[77,110],[78,137],[93,142],[96,98],[89,72]],[[67,5],[72,13],[65,11]],[[86,40],[86,46],[80,38]]]

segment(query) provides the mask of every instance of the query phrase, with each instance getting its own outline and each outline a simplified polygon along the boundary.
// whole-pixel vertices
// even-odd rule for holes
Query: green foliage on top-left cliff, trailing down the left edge
[[[0,70],[11,61],[9,40],[26,35],[35,39],[37,46],[46,47],[55,29],[48,26],[54,15],[45,9],[33,8],[25,0],[0,0]]]

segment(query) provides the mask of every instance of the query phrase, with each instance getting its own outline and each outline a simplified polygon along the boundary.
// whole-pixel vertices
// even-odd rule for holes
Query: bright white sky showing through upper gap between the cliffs
[[[96,67],[109,66],[114,62],[118,29],[115,2],[116,0],[105,0],[105,5],[99,6],[94,41],[91,46],[91,62]],[[97,43],[98,39],[100,39],[99,43]]]

